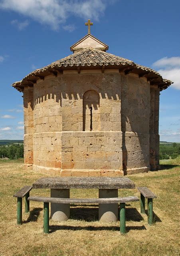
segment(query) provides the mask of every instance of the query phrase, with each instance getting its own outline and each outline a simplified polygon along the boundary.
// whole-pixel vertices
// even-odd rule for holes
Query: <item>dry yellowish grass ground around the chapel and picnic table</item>
[[[52,222],[50,234],[43,233],[43,204],[30,202],[30,214],[16,225],[16,198],[12,195],[48,174],[25,172],[21,162],[0,160],[1,234],[0,255],[28,256],[161,256],[179,255],[178,176],[180,158],[162,160],[163,170],[131,175],[136,186],[147,186],[154,200],[154,225],[140,215],[139,202],[127,206],[127,234],[119,232],[119,222],[100,223],[97,206],[72,206],[71,219]],[[32,190],[31,195],[47,195],[48,190]],[[135,190],[119,190],[119,196],[136,195]],[[72,190],[71,197],[98,197],[97,190]],[[23,204],[24,206],[24,204]]]

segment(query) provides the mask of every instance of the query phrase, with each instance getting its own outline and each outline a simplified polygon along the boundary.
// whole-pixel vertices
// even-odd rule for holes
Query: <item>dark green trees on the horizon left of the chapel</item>
[[[24,157],[24,145],[12,144],[9,146],[0,146],[0,158],[9,158],[11,160]]]

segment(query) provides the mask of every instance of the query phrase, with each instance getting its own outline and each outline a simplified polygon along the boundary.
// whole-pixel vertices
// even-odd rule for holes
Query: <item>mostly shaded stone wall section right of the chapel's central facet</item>
[[[121,76],[121,128],[125,174],[149,170],[149,82],[138,75]]]

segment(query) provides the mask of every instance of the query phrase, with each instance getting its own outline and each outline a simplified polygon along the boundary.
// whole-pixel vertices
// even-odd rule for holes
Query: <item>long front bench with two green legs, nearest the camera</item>
[[[126,202],[139,201],[136,196],[123,198],[53,198],[30,196],[30,201],[44,202],[44,233],[49,233],[49,203],[55,204],[114,204],[120,203],[120,232],[126,233],[125,204]]]

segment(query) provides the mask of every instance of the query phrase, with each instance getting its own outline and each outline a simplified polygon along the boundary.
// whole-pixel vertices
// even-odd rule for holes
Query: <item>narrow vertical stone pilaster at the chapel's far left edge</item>
[[[33,165],[34,97],[33,87],[24,88],[24,168]]]

